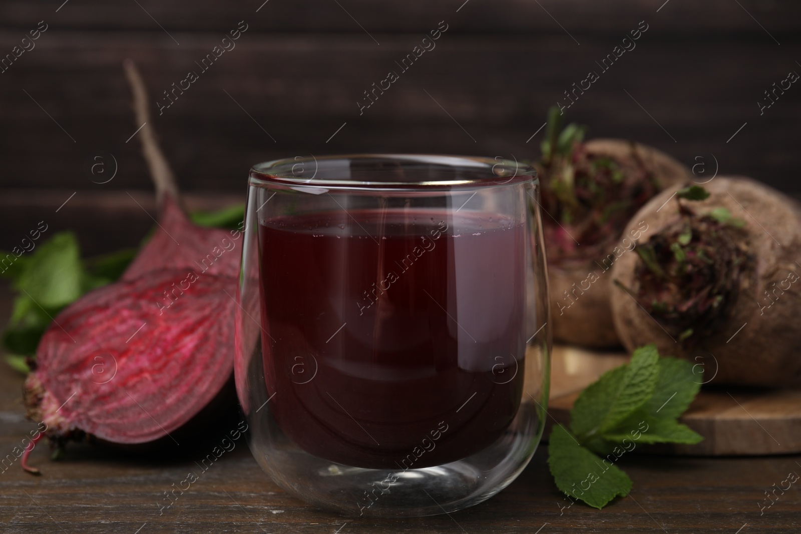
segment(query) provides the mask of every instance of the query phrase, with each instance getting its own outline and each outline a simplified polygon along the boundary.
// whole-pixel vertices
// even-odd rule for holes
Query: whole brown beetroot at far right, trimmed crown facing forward
[[[663,191],[626,230],[639,220],[648,230],[637,253],[611,272],[620,286],[611,295],[614,323],[626,348],[656,343],[662,354],[702,364],[716,383],[801,383],[795,201],[751,179],[718,177],[703,188]]]

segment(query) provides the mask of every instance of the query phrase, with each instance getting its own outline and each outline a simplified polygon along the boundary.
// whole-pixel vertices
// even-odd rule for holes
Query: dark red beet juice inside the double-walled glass
[[[305,451],[423,468],[497,440],[525,363],[525,227],[442,210],[260,225],[270,409]]]

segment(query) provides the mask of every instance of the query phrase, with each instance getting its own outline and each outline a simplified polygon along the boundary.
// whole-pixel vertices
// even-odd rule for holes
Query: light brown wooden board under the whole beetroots
[[[629,360],[623,352],[555,346],[548,412],[567,424],[578,394],[604,372]],[[704,437],[697,445],[654,445],[652,452],[748,456],[801,452],[801,391],[704,386],[681,422]],[[546,428],[545,436],[549,430]]]

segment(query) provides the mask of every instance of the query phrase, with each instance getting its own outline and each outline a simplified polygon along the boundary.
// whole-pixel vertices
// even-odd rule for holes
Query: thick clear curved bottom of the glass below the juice
[[[253,456],[281,488],[314,506],[344,516],[433,516],[479,504],[520,474],[531,460],[541,428],[533,404],[522,404],[516,424],[481,452],[427,468],[367,469],[312,456],[293,444],[272,415],[251,418]],[[260,447],[259,444],[270,444]]]

